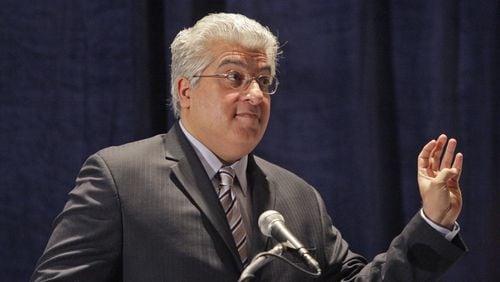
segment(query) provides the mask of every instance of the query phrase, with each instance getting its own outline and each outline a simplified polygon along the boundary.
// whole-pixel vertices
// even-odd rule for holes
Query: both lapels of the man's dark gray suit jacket
[[[234,244],[231,231],[227,225],[225,214],[220,208],[219,200],[214,193],[213,184],[208,177],[196,152],[182,133],[180,126],[175,124],[164,137],[165,159],[175,162],[172,165],[174,177],[178,180],[179,189],[206,216],[230,251],[236,267],[241,270],[242,265],[238,251]],[[258,158],[257,158],[258,159]],[[203,177],[200,177],[203,175]],[[274,209],[276,204],[276,183],[269,180],[257,163],[256,157],[248,156],[247,165],[248,190],[252,197],[252,240],[251,257],[269,249],[271,240],[260,232],[258,218],[266,210]]]

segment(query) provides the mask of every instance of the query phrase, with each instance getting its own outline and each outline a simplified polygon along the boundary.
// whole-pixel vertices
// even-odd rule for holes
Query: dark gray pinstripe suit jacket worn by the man
[[[466,250],[419,215],[371,263],[349,250],[309,184],[255,156],[251,255],[273,247],[257,217],[279,211],[323,269],[317,281],[429,281]],[[292,260],[300,263],[293,256]],[[242,265],[225,215],[179,126],[89,157],[39,259],[32,281],[236,281]],[[312,281],[272,261],[256,281]]]

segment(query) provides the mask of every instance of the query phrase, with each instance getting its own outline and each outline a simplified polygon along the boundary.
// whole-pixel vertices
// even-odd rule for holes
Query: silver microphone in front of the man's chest
[[[302,243],[288,230],[285,225],[283,216],[275,210],[267,210],[259,217],[259,228],[262,234],[267,237],[274,238],[280,243],[288,243],[289,246],[296,249],[304,261],[321,273],[319,263],[309,254],[309,251],[302,245]]]

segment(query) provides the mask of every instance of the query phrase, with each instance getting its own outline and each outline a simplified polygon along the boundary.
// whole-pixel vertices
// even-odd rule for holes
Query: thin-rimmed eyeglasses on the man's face
[[[193,75],[193,77],[224,78],[222,84],[227,88],[235,90],[246,90],[250,83],[255,80],[257,84],[259,84],[262,93],[267,95],[275,94],[279,84],[278,79],[270,75],[251,76],[248,73],[241,73],[234,70],[230,70],[226,73]]]

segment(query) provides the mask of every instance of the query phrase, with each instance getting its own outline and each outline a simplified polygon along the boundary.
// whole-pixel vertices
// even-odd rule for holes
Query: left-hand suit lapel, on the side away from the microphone
[[[212,181],[178,124],[165,136],[165,152],[167,160],[177,162],[171,167],[173,176],[178,180],[177,186],[206,216],[241,269],[241,260]]]

